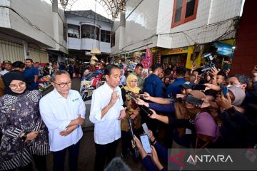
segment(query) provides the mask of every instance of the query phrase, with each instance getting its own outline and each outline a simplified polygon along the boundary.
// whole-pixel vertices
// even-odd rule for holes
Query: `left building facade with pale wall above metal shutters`
[[[52,53],[58,58],[67,53],[66,19],[58,1],[4,0],[0,6],[0,61],[32,58],[44,64]]]

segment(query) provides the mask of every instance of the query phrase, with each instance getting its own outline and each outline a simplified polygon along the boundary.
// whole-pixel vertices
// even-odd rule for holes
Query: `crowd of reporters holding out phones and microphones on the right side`
[[[170,71],[165,75],[156,63],[151,70],[144,79],[143,94],[135,93],[138,98],[132,102],[153,113],[146,117],[141,112],[141,123],[151,130],[151,155],[135,138],[146,170],[165,170],[167,148],[256,147],[257,67],[250,78],[215,67],[202,72],[201,68],[176,66],[166,69]],[[134,120],[134,113],[127,111]],[[160,130],[166,131],[163,143],[158,142]]]

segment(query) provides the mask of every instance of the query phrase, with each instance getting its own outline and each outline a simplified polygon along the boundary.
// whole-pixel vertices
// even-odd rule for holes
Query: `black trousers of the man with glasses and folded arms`
[[[53,152],[54,171],[64,171],[66,150],[69,152],[69,170],[78,170],[79,142],[77,142],[75,145],[64,148],[64,150]]]

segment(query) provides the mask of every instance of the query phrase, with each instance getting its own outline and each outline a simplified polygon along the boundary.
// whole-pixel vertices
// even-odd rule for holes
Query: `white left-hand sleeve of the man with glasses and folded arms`
[[[71,120],[57,120],[49,108],[49,102],[43,98],[39,102],[39,110],[41,118],[44,120],[46,127],[49,130],[65,130]]]

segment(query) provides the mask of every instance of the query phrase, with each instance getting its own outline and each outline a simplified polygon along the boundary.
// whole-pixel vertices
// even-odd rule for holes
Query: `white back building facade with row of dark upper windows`
[[[111,24],[94,11],[65,11],[68,25],[69,58],[84,62],[91,58],[92,48],[101,51],[101,58],[111,53]]]

